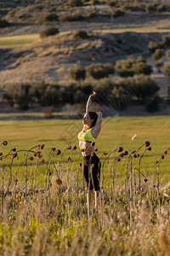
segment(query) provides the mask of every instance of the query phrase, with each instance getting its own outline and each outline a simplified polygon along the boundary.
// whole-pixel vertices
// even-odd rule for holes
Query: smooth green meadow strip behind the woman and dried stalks
[[[96,141],[97,154],[101,162],[105,160],[102,154],[111,152],[115,148],[122,146],[129,153],[138,149],[144,141],[150,141],[151,151],[146,151],[141,161],[141,172],[144,176],[152,180],[155,174],[155,163],[166,148],[170,147],[170,119],[168,116],[147,116],[147,117],[115,117],[103,119],[102,130]],[[8,120],[1,121],[1,141],[8,141],[8,146],[1,148],[2,152],[8,152],[11,148],[30,149],[38,144],[45,144],[43,157],[47,159],[51,148],[59,148],[61,152],[68,146],[77,145],[77,150],[72,152],[71,162],[77,162],[80,156],[78,148],[77,134],[82,129],[82,120],[74,119],[37,119],[37,120]],[[137,134],[136,140],[131,140]],[[139,150],[141,155],[144,147]],[[63,160],[70,155],[66,151]],[[110,162],[106,162],[104,168],[105,183],[109,183],[110,167],[112,160],[118,153],[111,154]],[[123,158],[116,167],[116,172],[120,177],[124,177],[127,158]],[[57,160],[57,158],[55,157]],[[59,156],[58,156],[59,159]],[[17,165],[20,160],[15,160]],[[134,160],[134,166],[139,166],[139,158]],[[161,161],[160,175],[161,184],[169,180],[169,156]]]

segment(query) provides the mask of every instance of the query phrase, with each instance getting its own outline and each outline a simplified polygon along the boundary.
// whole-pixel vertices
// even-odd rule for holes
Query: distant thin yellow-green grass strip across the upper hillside
[[[152,27],[129,27],[129,28],[117,28],[117,29],[107,29],[107,30],[94,30],[94,32],[170,32],[169,29],[159,29]],[[61,32],[66,33],[66,32]],[[15,45],[25,45],[37,42],[39,39],[39,34],[27,34],[19,36],[10,37],[0,37],[0,46],[15,46]]]

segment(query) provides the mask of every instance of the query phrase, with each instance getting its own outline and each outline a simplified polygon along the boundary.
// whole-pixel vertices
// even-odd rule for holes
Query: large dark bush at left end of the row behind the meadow
[[[26,110],[31,103],[31,84],[8,84],[4,97],[11,106]]]

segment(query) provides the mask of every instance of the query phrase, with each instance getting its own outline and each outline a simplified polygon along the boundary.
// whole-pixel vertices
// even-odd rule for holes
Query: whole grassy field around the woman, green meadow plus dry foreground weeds
[[[160,188],[158,193],[157,182],[154,188],[152,180],[155,161],[169,147],[169,126],[167,116],[103,119],[102,131],[96,143],[99,157],[103,152],[111,152],[119,146],[130,152],[139,148],[146,140],[150,141],[152,150],[147,150],[142,160],[140,171],[148,177],[147,183],[142,178],[142,189],[139,189],[138,182],[135,184],[131,175],[134,172],[127,174],[125,171],[127,158],[123,157],[116,164],[116,175],[111,177],[111,185],[107,163],[104,175],[108,186],[101,189],[95,208],[94,204],[87,207],[86,190],[82,188],[82,183],[77,183],[77,170],[74,172],[70,168],[72,161],[77,160],[80,155],[78,149],[72,152],[71,163],[65,160],[71,155],[71,150],[67,150],[69,153],[64,157],[65,167],[62,165],[59,170],[62,185],[59,185],[56,173],[54,175],[54,166],[50,166],[49,158],[45,165],[39,166],[37,162],[36,168],[30,162],[24,165],[23,172],[16,181],[12,175],[17,170],[20,157],[19,160],[17,157],[11,160],[9,156],[7,165],[1,168],[3,175],[11,175],[8,175],[7,180],[3,180],[3,175],[1,176],[0,254],[169,255],[169,190],[161,191]],[[1,141],[8,141],[8,145],[1,148],[2,152],[8,152],[14,147],[17,150],[29,149],[44,143],[42,157],[47,160],[50,148],[60,148],[63,152],[67,146],[77,144],[77,133],[82,129],[82,124],[81,120],[71,119],[13,120],[1,121],[0,129]],[[137,138],[131,141],[134,134],[137,134]],[[143,151],[144,147],[139,150],[139,154]],[[56,158],[55,155],[54,159]],[[138,167],[138,162],[139,159],[135,159],[133,167]],[[48,180],[44,189],[36,192],[33,190],[34,183],[38,184],[39,181],[36,181],[34,174],[39,167],[41,172],[48,170]],[[126,179],[126,186],[119,183],[118,172],[123,180],[124,177],[129,178],[128,182]],[[82,179],[82,172],[79,176]],[[162,160],[160,177],[161,184],[168,182],[168,154]],[[38,173],[37,179],[40,178]],[[26,183],[20,183],[20,179],[26,180]],[[8,193],[8,189],[14,190]],[[26,191],[31,192],[27,194]]]

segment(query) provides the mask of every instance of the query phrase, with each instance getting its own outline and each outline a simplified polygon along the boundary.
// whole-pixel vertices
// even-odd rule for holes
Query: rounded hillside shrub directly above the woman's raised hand
[[[94,79],[103,79],[114,73],[114,67],[111,64],[95,63],[88,66],[86,70]]]

